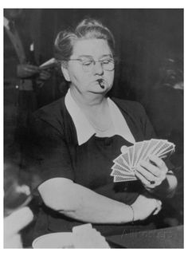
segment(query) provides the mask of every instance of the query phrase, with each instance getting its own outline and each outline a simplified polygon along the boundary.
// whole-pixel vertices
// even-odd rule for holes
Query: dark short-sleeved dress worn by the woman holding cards
[[[115,98],[112,100],[123,114],[136,142],[155,137],[141,104]],[[141,192],[146,192],[139,181],[113,183],[110,176],[112,160],[119,156],[120,148],[123,145],[131,145],[123,137],[92,136],[86,143],[78,145],[76,128],[65,107],[65,98],[34,113],[29,138],[27,150],[29,157],[32,156],[30,169],[34,170],[33,189],[47,179],[64,177],[110,199],[127,204],[133,203]],[[147,226],[151,219],[139,224]],[[72,226],[79,224],[81,222],[69,219],[43,205],[34,237],[54,231],[71,231]],[[93,226],[104,235],[119,234],[124,230],[138,230],[136,225]]]

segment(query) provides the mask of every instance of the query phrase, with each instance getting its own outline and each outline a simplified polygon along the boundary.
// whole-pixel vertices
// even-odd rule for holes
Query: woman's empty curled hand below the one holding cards
[[[131,207],[134,210],[134,220],[144,220],[150,215],[157,215],[162,208],[162,202],[158,199],[147,198],[145,195],[139,195]]]

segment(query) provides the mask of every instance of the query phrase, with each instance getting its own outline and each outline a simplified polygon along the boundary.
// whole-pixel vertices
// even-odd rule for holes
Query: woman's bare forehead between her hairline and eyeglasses
[[[79,39],[73,46],[73,57],[88,55],[92,57],[100,57],[112,54],[108,46],[108,42],[104,39]]]

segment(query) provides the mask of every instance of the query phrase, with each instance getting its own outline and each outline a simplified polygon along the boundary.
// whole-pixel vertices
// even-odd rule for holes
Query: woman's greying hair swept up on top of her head
[[[112,54],[115,52],[115,40],[112,32],[96,19],[86,18],[75,30],[61,31],[55,40],[55,57],[57,61],[69,61],[73,45],[79,39],[104,39],[108,41]]]

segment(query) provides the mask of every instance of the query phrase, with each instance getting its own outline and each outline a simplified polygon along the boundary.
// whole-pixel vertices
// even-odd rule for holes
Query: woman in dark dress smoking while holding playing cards
[[[55,47],[70,85],[65,97],[34,113],[30,126],[35,186],[44,203],[36,235],[79,223],[92,223],[105,235],[135,221],[146,225],[140,221],[160,211],[159,196],[173,195],[177,181],[151,156],[137,167],[137,181],[113,183],[112,160],[122,146],[155,134],[140,104],[106,96],[115,73],[112,33],[86,19],[74,32],[59,33]]]

